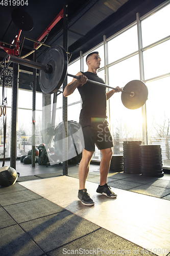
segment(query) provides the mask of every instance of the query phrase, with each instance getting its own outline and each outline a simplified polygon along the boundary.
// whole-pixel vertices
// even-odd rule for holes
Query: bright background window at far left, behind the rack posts
[[[10,157],[11,141],[11,102],[12,88],[7,88],[7,131],[6,131],[6,157]],[[42,93],[36,93],[36,145],[41,143],[42,130]],[[3,117],[0,119],[1,133],[0,144],[4,144]],[[18,110],[17,110],[17,157],[27,154],[32,148],[32,92],[28,90],[18,90]],[[0,157],[4,156],[4,148],[0,147]]]

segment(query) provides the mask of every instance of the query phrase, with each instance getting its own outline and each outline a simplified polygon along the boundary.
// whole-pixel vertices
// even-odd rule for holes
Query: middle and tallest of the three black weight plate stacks
[[[141,141],[124,141],[124,173],[141,174],[140,170]]]

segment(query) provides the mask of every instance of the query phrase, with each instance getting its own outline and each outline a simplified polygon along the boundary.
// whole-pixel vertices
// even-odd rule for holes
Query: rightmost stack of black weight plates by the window
[[[163,177],[160,145],[140,145],[141,173],[143,176]]]

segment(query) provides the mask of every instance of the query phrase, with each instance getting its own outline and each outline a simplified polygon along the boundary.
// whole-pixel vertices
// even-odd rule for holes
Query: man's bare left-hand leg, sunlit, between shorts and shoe
[[[89,164],[93,153],[93,151],[83,150],[82,159],[79,164],[79,189],[85,188],[85,183],[89,172]]]

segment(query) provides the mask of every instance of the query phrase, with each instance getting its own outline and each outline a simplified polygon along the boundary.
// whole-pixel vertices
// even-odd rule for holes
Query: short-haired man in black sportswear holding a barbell
[[[89,80],[105,83],[102,78],[97,75],[97,70],[100,68],[101,58],[99,52],[92,52],[87,55],[86,63],[88,66],[87,72],[79,72],[77,76],[80,79],[72,79],[64,89],[63,95],[67,97],[78,88],[83,104],[80,113],[80,124],[82,126],[84,136],[84,150],[82,160],[79,164],[79,192],[78,198],[84,205],[94,205],[85,188],[86,179],[89,173],[89,164],[95,150],[95,145],[102,153],[100,164],[100,185],[96,192],[110,198],[116,198],[107,184],[107,175],[109,172],[110,161],[112,158],[113,141],[106,120],[106,101],[115,93],[122,89],[119,87],[117,91],[111,90],[106,93],[106,87],[92,84]]]

